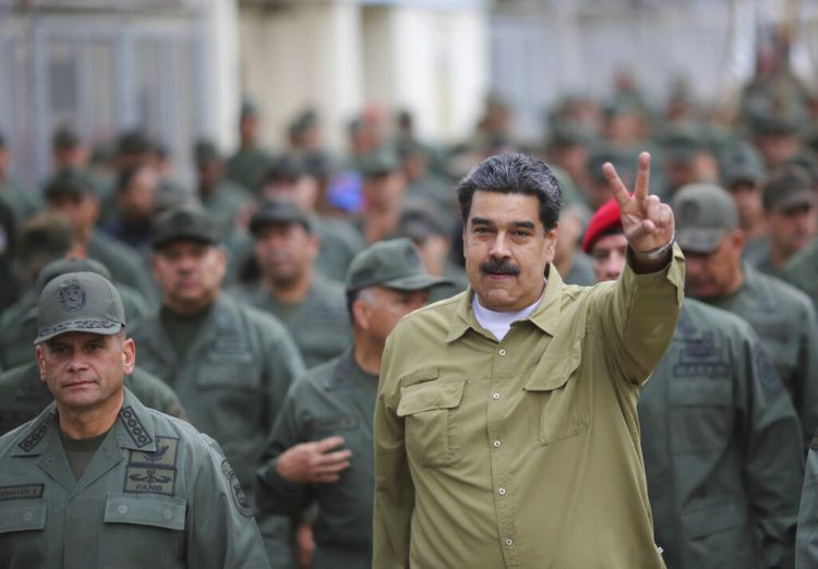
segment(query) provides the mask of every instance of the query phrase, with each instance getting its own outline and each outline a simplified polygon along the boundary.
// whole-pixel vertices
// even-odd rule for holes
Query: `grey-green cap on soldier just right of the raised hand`
[[[679,187],[671,202],[676,220],[676,241],[683,251],[709,254],[724,233],[738,227],[738,213],[731,195],[715,184]]]

